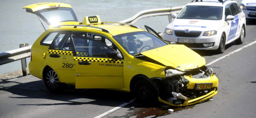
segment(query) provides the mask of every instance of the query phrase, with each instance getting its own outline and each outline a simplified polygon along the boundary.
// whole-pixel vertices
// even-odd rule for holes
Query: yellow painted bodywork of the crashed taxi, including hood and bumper
[[[43,4],[44,5],[44,4]],[[56,4],[55,4],[56,5]],[[32,8],[32,7],[29,7]],[[146,32],[130,26],[118,26],[109,24],[95,24],[92,26],[109,30],[111,33],[84,26],[61,26],[45,31],[32,46],[32,61],[29,63],[29,71],[33,76],[43,79],[44,69],[52,68],[58,75],[60,82],[76,85],[76,88],[104,88],[118,91],[130,92],[130,82],[136,75],[144,75],[148,78],[165,77],[165,66],[171,66],[184,71],[205,65],[205,59],[185,47],[184,45],[167,45],[160,48],[141,53],[162,65],[150,63],[129,55],[115,39],[114,35],[130,32]],[[100,34],[112,41],[122,53],[123,59],[112,59],[107,57],[88,57],[88,52],[76,52],[71,50],[49,49],[49,46],[40,45],[40,41],[51,32],[72,31],[83,33]],[[42,58],[43,54],[43,58]],[[59,58],[50,57],[51,54],[60,55]],[[89,65],[80,65],[79,62],[90,62]],[[187,106],[198,103],[214,96],[217,93],[218,78],[215,75],[206,79],[195,79],[184,76],[189,80],[188,89],[193,89],[195,83],[213,83],[216,89],[205,96],[186,101],[183,105],[173,105],[165,102],[159,97],[159,101],[172,106]]]

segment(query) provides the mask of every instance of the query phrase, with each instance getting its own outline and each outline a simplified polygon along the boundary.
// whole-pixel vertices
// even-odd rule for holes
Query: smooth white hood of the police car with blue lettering
[[[173,21],[173,29],[185,32],[190,31],[210,31],[216,30],[220,20],[201,20],[201,19],[175,19]],[[186,31],[188,29],[188,31]]]

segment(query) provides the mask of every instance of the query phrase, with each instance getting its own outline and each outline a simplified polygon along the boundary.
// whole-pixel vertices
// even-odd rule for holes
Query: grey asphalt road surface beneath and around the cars
[[[206,64],[227,55],[245,45],[256,41],[256,22],[247,21],[245,41],[241,45],[235,42],[228,44],[223,54],[214,51],[198,51]],[[208,66],[219,78],[219,89],[214,101],[188,107],[170,107],[145,105],[134,101],[121,107],[106,118],[170,118],[170,117],[226,117],[226,118],[256,118],[256,43]],[[189,59],[189,58],[188,58]],[[209,67],[210,68],[210,67]],[[94,118],[119,105],[134,96],[127,92],[117,92],[103,89],[79,89],[68,86],[62,93],[49,92],[44,82],[36,77],[27,76],[14,78],[7,83],[0,83],[0,117],[1,118],[45,118],[45,117],[85,117]],[[129,108],[135,107],[131,111]],[[168,112],[173,109],[174,112]]]

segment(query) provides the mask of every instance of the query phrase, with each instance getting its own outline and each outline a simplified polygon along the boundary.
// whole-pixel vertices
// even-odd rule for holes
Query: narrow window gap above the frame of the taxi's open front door
[[[121,54],[120,50],[116,47],[114,43],[112,43],[108,38],[101,36],[101,35],[93,35],[93,39],[100,41],[106,45],[108,45],[110,48],[116,50],[118,53]]]

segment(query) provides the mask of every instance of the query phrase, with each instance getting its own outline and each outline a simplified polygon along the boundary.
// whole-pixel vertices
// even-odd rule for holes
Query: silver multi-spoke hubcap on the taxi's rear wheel
[[[56,89],[58,87],[59,77],[57,76],[55,71],[51,70],[47,73],[46,82],[51,89]]]

